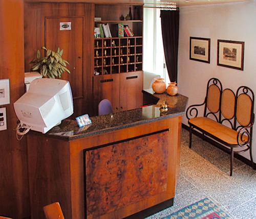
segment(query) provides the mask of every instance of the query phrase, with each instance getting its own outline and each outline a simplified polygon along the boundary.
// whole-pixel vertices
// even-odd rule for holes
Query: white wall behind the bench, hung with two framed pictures
[[[189,37],[211,39],[210,64],[189,60]],[[207,81],[218,78],[223,89],[236,92],[241,85],[256,95],[256,1],[211,6],[181,7],[179,33],[179,92],[188,96],[188,106],[203,103]],[[217,40],[245,42],[244,70],[217,65]],[[255,107],[256,108],[256,107]],[[202,111],[201,111],[202,113]],[[254,110],[256,114],[256,110]],[[187,124],[187,119],[183,118]],[[256,125],[253,132],[253,158],[256,161]],[[242,156],[249,158],[249,153]]]

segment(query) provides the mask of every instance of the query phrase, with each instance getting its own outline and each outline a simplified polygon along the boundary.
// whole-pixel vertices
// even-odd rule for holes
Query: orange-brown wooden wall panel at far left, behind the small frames
[[[24,218],[30,214],[26,137],[17,141],[12,129],[17,117],[13,103],[24,94],[24,4],[0,1],[0,79],[10,79],[7,130],[0,131],[0,215]]]

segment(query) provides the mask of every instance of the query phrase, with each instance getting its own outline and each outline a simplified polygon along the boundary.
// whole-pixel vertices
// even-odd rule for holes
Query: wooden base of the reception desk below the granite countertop
[[[169,131],[148,136],[148,134],[166,129]],[[122,157],[119,162],[125,160],[127,164],[129,163],[127,169],[129,169],[130,172],[122,172],[120,183],[125,183],[127,189],[127,185],[133,180],[135,185],[134,190],[141,193],[140,196],[137,196],[131,192],[129,196],[126,196],[127,203],[130,204],[124,207],[120,206],[125,203],[126,197],[121,197],[122,202],[119,209],[110,209],[109,206],[106,205],[106,210],[102,211],[105,212],[105,214],[99,216],[100,218],[122,218],[173,198],[175,196],[177,167],[179,166],[180,130],[181,116],[178,116],[73,141],[47,138],[44,135],[29,135],[28,162],[32,219],[45,218],[42,207],[56,201],[60,202],[65,218],[86,218],[86,211],[84,209],[84,203],[86,201],[84,199],[84,150],[95,150],[99,145],[113,144],[113,142],[124,141],[120,144],[115,143],[115,147],[120,147],[118,153],[122,153],[122,155],[119,154],[114,157],[112,156],[113,153],[110,153],[108,159],[105,157],[104,162],[115,158],[112,161],[113,163],[111,165],[109,164],[109,167],[111,167],[112,173],[117,173],[118,168],[123,167],[120,163],[119,166],[117,165],[118,159]],[[142,135],[145,136],[140,138]],[[127,139],[131,138],[134,138],[134,140],[127,141]],[[125,143],[125,141],[127,142]],[[143,147],[143,143],[145,142],[149,151],[146,147]],[[136,148],[138,146],[142,146],[141,152]],[[113,145],[110,147],[113,147]],[[150,149],[152,149],[152,151],[150,151]],[[103,153],[102,151],[99,152],[101,154]],[[140,170],[138,171],[138,168],[141,168],[140,162],[131,162],[132,159],[136,160],[140,153],[141,156],[139,160],[141,159],[142,161],[143,171],[147,171],[148,173],[142,174]],[[167,155],[165,153],[167,153]],[[92,156],[90,159],[93,157],[95,156]],[[159,160],[160,158],[163,160]],[[155,159],[155,163],[153,159]],[[167,187],[164,191],[166,185],[166,159],[168,162]],[[145,163],[146,160],[149,160],[151,165],[147,166]],[[91,172],[91,174],[99,176],[100,174],[107,174],[102,172],[104,166],[103,160],[102,162],[100,160],[98,165],[101,165],[99,168],[101,171]],[[153,173],[153,169],[155,169],[155,178],[150,176],[150,172]],[[88,169],[88,171],[89,175],[90,169]],[[130,176],[129,174],[135,175]],[[124,177],[125,179],[123,179]],[[151,180],[152,185],[150,183]],[[107,181],[105,181],[105,183],[106,182]],[[143,184],[143,182],[145,184]],[[103,182],[101,181],[101,183]],[[132,184],[133,183],[131,183],[131,185]],[[116,184],[116,188],[120,189],[122,187],[118,187]],[[153,189],[151,191],[153,193],[150,193],[151,189]],[[122,194],[122,192],[119,191],[119,194]],[[126,194],[128,195],[127,190]],[[135,199],[134,202],[132,201],[133,198]],[[143,198],[143,200],[139,201],[141,198]],[[93,199],[94,198],[91,200]],[[109,198],[110,202],[116,202],[116,199],[117,197],[115,196]],[[99,212],[95,214],[99,215]],[[91,218],[92,215],[93,213],[91,211]],[[90,218],[90,215],[88,215],[88,218]]]

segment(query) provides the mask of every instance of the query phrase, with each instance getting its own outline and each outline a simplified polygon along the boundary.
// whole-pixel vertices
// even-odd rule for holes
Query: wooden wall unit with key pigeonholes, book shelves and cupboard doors
[[[133,19],[120,20],[132,11]],[[114,112],[139,108],[143,89],[143,6],[95,5],[94,27],[108,24],[112,37],[94,38],[94,112],[103,99]],[[129,26],[134,36],[118,37],[118,24]]]

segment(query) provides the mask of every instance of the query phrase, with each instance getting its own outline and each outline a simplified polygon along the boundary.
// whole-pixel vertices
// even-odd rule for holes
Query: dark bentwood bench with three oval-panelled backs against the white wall
[[[197,107],[204,106],[202,117]],[[252,126],[254,123],[253,91],[241,86],[236,94],[230,89],[222,90],[221,82],[212,78],[208,81],[204,103],[191,105],[186,110],[189,124],[189,148],[192,144],[192,130],[197,129],[221,144],[230,152],[230,176],[233,170],[233,154],[250,151],[252,159]],[[234,148],[239,150],[234,151]]]

